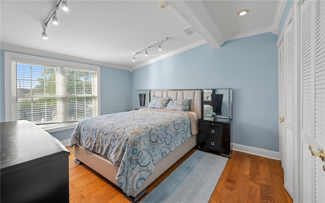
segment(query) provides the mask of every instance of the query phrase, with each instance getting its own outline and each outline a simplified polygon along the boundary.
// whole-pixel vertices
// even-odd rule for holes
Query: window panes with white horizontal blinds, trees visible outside
[[[15,63],[17,120],[36,124],[75,122],[97,115],[95,71]]]

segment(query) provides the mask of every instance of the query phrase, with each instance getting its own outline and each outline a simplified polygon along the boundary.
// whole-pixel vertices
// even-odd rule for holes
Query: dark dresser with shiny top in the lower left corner
[[[1,202],[69,202],[69,150],[25,120],[0,130]]]

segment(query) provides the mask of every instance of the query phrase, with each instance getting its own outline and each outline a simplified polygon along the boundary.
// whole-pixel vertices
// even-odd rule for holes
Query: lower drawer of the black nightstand
[[[213,138],[209,136],[199,136],[199,148],[217,150],[219,152],[230,153],[230,140]]]

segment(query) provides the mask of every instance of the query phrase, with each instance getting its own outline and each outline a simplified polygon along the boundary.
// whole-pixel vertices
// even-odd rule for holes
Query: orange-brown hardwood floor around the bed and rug
[[[84,164],[77,164],[74,151],[69,156],[70,202],[129,202],[117,186],[92,171]],[[169,176],[196,149],[192,149],[167,172],[155,180],[147,194]],[[283,170],[280,161],[232,152],[218,184],[209,201],[211,202],[293,202],[283,187]]]

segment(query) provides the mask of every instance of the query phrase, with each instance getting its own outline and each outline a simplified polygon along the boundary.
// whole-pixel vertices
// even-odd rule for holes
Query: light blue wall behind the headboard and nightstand
[[[271,32],[204,44],[132,73],[137,89],[233,88],[232,142],[279,151],[278,50]],[[135,99],[132,99],[135,108]]]

